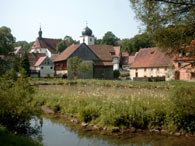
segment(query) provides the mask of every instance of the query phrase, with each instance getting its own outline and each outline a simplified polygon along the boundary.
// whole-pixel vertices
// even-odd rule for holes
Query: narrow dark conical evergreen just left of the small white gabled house
[[[30,71],[30,62],[29,62],[27,53],[25,53],[21,57],[19,69],[20,69],[20,71],[24,70],[26,72],[26,75],[27,76],[30,76],[30,74],[31,74],[31,71]]]

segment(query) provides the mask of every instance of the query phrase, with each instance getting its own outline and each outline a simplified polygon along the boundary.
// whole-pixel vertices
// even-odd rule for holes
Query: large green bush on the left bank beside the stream
[[[29,121],[34,115],[31,105],[34,93],[27,78],[18,78],[14,70],[0,78],[0,124],[11,131],[25,133],[30,130]]]

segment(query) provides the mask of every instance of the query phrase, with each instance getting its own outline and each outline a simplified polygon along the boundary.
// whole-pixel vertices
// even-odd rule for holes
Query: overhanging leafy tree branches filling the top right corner
[[[176,53],[195,38],[195,1],[130,0],[137,19],[146,26],[155,43],[167,53]],[[185,47],[184,47],[185,48]]]

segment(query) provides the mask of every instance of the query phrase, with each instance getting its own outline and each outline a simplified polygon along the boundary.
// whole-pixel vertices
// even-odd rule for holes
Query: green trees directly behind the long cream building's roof
[[[148,33],[142,33],[134,36],[131,39],[125,39],[121,43],[123,51],[129,53],[137,52],[141,48],[154,47],[152,37]]]

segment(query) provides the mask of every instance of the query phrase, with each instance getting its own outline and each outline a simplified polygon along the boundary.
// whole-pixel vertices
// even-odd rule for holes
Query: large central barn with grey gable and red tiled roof
[[[86,45],[73,44],[62,52],[54,61],[56,74],[68,74],[68,60],[74,56],[93,64],[92,73],[85,78],[113,78],[113,59],[114,53],[112,46],[108,45]],[[80,77],[80,76],[79,76]]]

